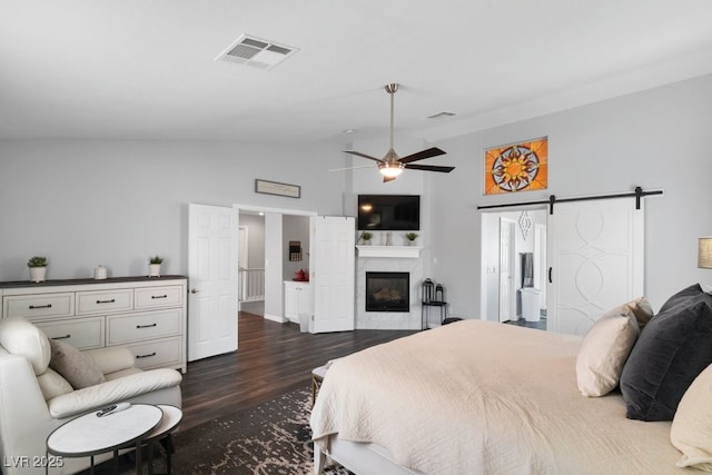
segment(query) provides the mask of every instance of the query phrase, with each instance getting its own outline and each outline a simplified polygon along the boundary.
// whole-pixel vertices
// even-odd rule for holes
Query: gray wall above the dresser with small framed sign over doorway
[[[0,141],[0,280],[188,273],[188,204],[342,211],[340,154],[316,146],[132,141]],[[279,166],[275,166],[279,164]],[[301,198],[256,194],[255,178],[301,186]]]

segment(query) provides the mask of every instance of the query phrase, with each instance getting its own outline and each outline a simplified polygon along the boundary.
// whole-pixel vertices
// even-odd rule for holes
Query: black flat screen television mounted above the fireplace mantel
[[[358,230],[421,229],[418,195],[358,195]]]

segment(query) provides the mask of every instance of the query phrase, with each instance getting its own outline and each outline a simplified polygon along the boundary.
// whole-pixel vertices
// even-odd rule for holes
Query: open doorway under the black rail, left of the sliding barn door
[[[483,319],[546,328],[546,209],[482,214]]]

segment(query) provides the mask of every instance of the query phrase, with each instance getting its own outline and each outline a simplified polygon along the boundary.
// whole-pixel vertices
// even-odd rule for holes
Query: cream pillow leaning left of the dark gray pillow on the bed
[[[605,396],[619,385],[640,333],[629,304],[609,310],[593,324],[576,355],[576,383],[581,394]]]

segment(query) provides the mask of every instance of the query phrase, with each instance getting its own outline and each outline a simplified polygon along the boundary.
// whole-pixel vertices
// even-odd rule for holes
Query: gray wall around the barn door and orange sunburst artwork
[[[439,142],[457,168],[432,178],[432,273],[458,316],[481,314],[478,205],[644,189],[645,294],[655,308],[683,286],[710,284],[696,239],[712,235],[712,76]],[[548,189],[483,197],[483,151],[548,137]],[[433,174],[437,175],[437,174]]]

